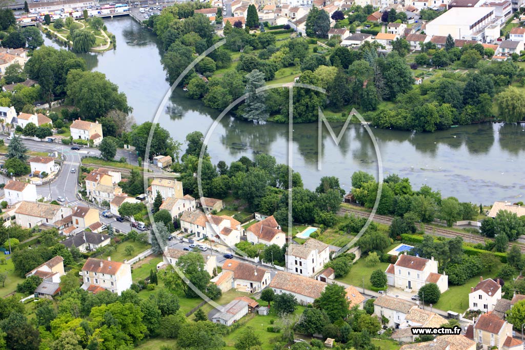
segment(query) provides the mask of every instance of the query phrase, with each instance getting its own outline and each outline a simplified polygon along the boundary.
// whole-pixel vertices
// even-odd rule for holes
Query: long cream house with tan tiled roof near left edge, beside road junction
[[[39,225],[54,226],[55,222],[69,215],[71,215],[70,208],[31,201],[22,201],[15,210],[16,223],[25,228]]]

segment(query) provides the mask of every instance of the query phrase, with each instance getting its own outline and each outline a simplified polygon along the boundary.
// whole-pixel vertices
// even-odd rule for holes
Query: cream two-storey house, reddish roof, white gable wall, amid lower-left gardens
[[[82,289],[93,293],[109,290],[120,295],[128,290],[133,283],[131,280],[131,266],[122,262],[88,258],[82,271]]]

